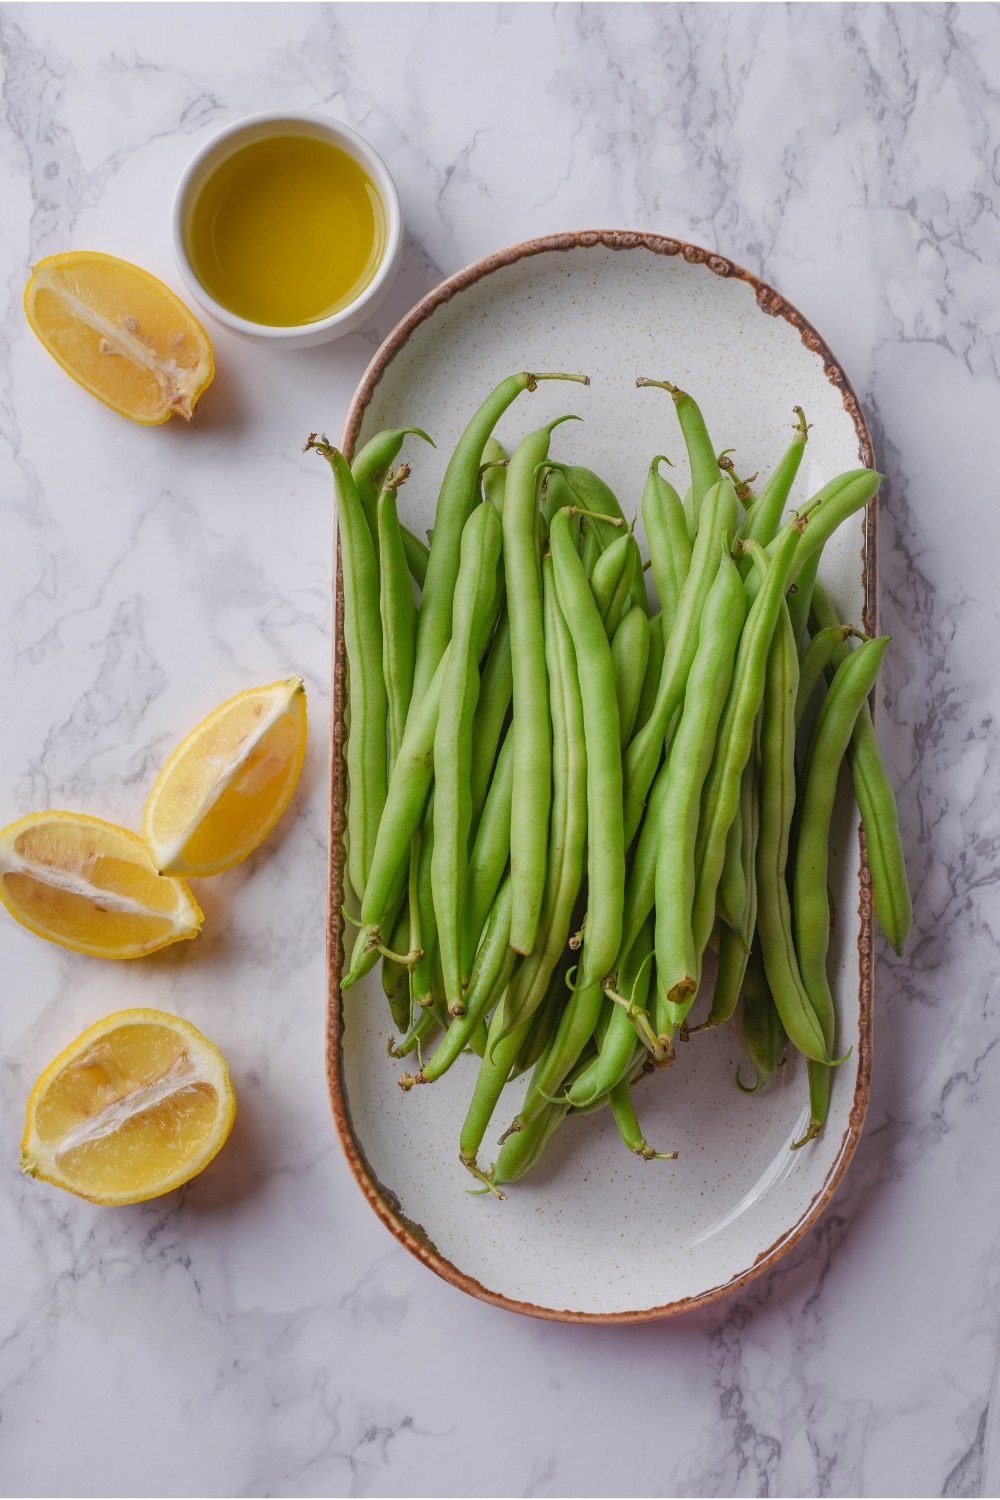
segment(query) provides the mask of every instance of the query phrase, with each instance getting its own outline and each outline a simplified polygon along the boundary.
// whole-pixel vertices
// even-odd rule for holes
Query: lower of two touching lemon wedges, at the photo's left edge
[[[0,830],[0,902],[39,938],[97,958],[139,958],[202,922],[138,834],[85,813],[28,813]]]

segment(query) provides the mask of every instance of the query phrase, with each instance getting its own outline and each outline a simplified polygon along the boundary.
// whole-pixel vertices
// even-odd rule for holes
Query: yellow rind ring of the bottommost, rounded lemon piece
[[[106,1192],[106,1194],[91,1194],[82,1192],[73,1182],[58,1170],[54,1162],[49,1162],[52,1154],[43,1146],[37,1138],[36,1131],[36,1114],[37,1104],[46,1094],[49,1083],[66,1068],[75,1058],[91,1047],[100,1036],[108,1035],[108,1032],[115,1030],[120,1026],[132,1026],[148,1023],[154,1026],[168,1026],[172,1030],[180,1032],[198,1053],[202,1064],[211,1062],[213,1077],[211,1083],[219,1095],[220,1110],[219,1124],[213,1136],[204,1143],[204,1146],[195,1152],[190,1161],[178,1167],[177,1172],[169,1173],[166,1178],[157,1179],[139,1192]],[[87,1030],[81,1032],[67,1047],[58,1053],[57,1058],[49,1062],[46,1068],[39,1074],[34,1088],[31,1089],[25,1107],[24,1120],[24,1137],[21,1140],[21,1172],[27,1178],[34,1178],[37,1182],[48,1182],[55,1188],[63,1188],[66,1192],[72,1192],[78,1198],[85,1198],[88,1203],[97,1203],[102,1208],[123,1208],[129,1203],[147,1203],[150,1198],[159,1198],[165,1192],[172,1192],[175,1188],[181,1188],[198,1173],[204,1172],[210,1161],[213,1161],[222,1148],[225,1146],[229,1134],[232,1131],[232,1124],[235,1120],[235,1094],[232,1092],[232,1082],[229,1078],[229,1068],[225,1058],[208,1038],[192,1026],[190,1022],[183,1020],[180,1016],[171,1016],[168,1011],[156,1011],[150,1006],[135,1006],[127,1011],[115,1011],[112,1016],[105,1016],[103,1020],[96,1022],[88,1026]]]

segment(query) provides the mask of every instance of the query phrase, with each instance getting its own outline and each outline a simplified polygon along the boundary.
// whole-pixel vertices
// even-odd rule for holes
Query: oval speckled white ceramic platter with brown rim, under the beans
[[[811,429],[793,502],[859,460],[873,462],[858,402],[829,348],[774,290],[694,246],[619,232],[534,240],[444,282],[372,362],[343,447],[351,453],[381,428],[420,426],[435,438],[436,448],[408,440],[403,450],[412,477],[400,490],[400,516],[423,534],[468,417],[502,376],[522,369],[582,370],[591,386],[544,382],[522,394],[498,436],[510,448],[523,432],[576,412],[582,422],[556,430],[552,456],[597,470],[628,516],[639,508],[652,454],[675,460],[681,492],[688,483],[673,402],[663,390],[637,390],[637,375],[690,390],[718,447],[735,448],[741,474],[771,471],[792,435],[792,408],[804,406]],[[847,618],[873,630],[874,506],[841,528],[822,574]],[[403,1094],[403,1064],[385,1050],[391,1024],[378,975],[343,994],[339,987],[340,618],[337,585],[328,1071],[342,1143],[369,1203],[439,1275],[537,1317],[637,1322],[742,1286],[822,1212],[864,1120],[871,910],[850,788],[841,788],[834,826],[831,974],[838,1046],[853,1052],[837,1072],[822,1137],[789,1149],[808,1119],[802,1059],[789,1056],[759,1095],[741,1094],[736,1070],[747,1072],[747,1062],[735,1029],[724,1026],[681,1046],[673,1066],[636,1089],[646,1138],[658,1150],[676,1149],[676,1161],[630,1155],[604,1112],[567,1120],[507,1202],[472,1196],[459,1130],[478,1059],[465,1054],[438,1083]],[[703,996],[699,1006],[706,1005]],[[501,1100],[481,1154],[487,1162],[525,1084],[511,1084]]]

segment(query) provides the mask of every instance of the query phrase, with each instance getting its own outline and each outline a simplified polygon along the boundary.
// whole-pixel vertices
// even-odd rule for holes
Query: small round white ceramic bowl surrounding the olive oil
[[[231,156],[240,147],[249,146],[252,141],[270,140],[276,135],[310,135],[315,140],[330,141],[331,146],[337,146],[364,168],[375,183],[385,208],[385,254],[375,276],[360,297],[355,297],[346,308],[331,314],[328,318],[319,318],[316,322],[295,324],[294,327],[271,327],[264,322],[250,322],[249,318],[240,318],[235,312],[229,312],[228,308],[223,308],[205,290],[187,254],[192,212],[207,178],[226,156]],[[391,286],[403,248],[403,216],[399,207],[399,194],[378,152],[355,130],[349,129],[349,126],[340,124],[337,120],[328,120],[321,114],[298,112],[295,110],[250,114],[243,120],[237,120],[235,124],[228,124],[225,130],[219,130],[210,141],[205,141],[187,164],[177,184],[172,230],[174,255],[177,256],[180,274],[199,308],[244,339],[252,339],[255,344],[268,344],[276,348],[307,350],[316,344],[328,344],[331,339],[339,339],[342,334],[357,328],[375,312]]]

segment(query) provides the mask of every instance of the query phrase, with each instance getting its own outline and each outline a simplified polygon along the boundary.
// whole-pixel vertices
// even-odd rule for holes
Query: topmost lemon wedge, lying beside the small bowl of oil
[[[208,334],[180,297],[114,255],[69,250],[39,261],[24,310],[84,390],[144,426],[172,414],[190,420],[216,372]]]

